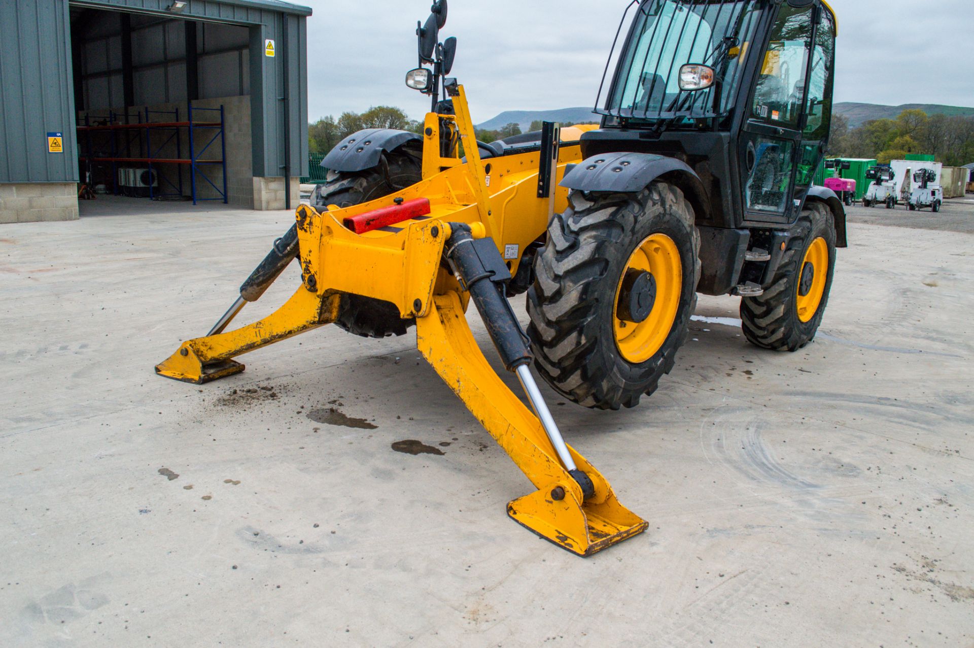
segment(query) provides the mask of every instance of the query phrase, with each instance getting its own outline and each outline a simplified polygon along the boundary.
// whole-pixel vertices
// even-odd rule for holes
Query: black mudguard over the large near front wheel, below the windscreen
[[[560,186],[581,191],[636,193],[656,179],[671,182],[683,190],[697,221],[710,217],[710,197],[696,172],[682,160],[662,155],[631,152],[593,155],[566,172]]]

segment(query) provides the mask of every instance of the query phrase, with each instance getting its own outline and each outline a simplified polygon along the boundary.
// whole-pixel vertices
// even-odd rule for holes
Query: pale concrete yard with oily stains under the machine
[[[545,389],[650,521],[582,559],[507,518],[530,482],[412,333],[154,375],[290,213],[98,203],[0,227],[0,646],[974,646],[974,206],[851,209],[796,354],[707,297],[640,407]]]

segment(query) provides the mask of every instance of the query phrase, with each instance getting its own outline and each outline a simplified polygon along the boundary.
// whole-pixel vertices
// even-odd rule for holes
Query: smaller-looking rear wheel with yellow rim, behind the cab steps
[[[807,206],[791,234],[768,289],[740,300],[744,336],[773,351],[798,351],[814,339],[836,265],[836,225],[828,208]]]

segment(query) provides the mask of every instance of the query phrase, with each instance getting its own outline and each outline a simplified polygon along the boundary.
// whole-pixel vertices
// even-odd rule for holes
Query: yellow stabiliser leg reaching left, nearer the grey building
[[[243,371],[243,364],[230,359],[334,322],[339,299],[337,294],[322,297],[301,286],[281,308],[259,322],[183,342],[169,359],[156,365],[156,373],[200,385]]]

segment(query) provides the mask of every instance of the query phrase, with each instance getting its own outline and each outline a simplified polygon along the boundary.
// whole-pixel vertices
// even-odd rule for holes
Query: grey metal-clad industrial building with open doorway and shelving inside
[[[71,220],[109,196],[131,212],[150,198],[290,209],[308,172],[310,15],[279,0],[0,1],[0,223]]]

